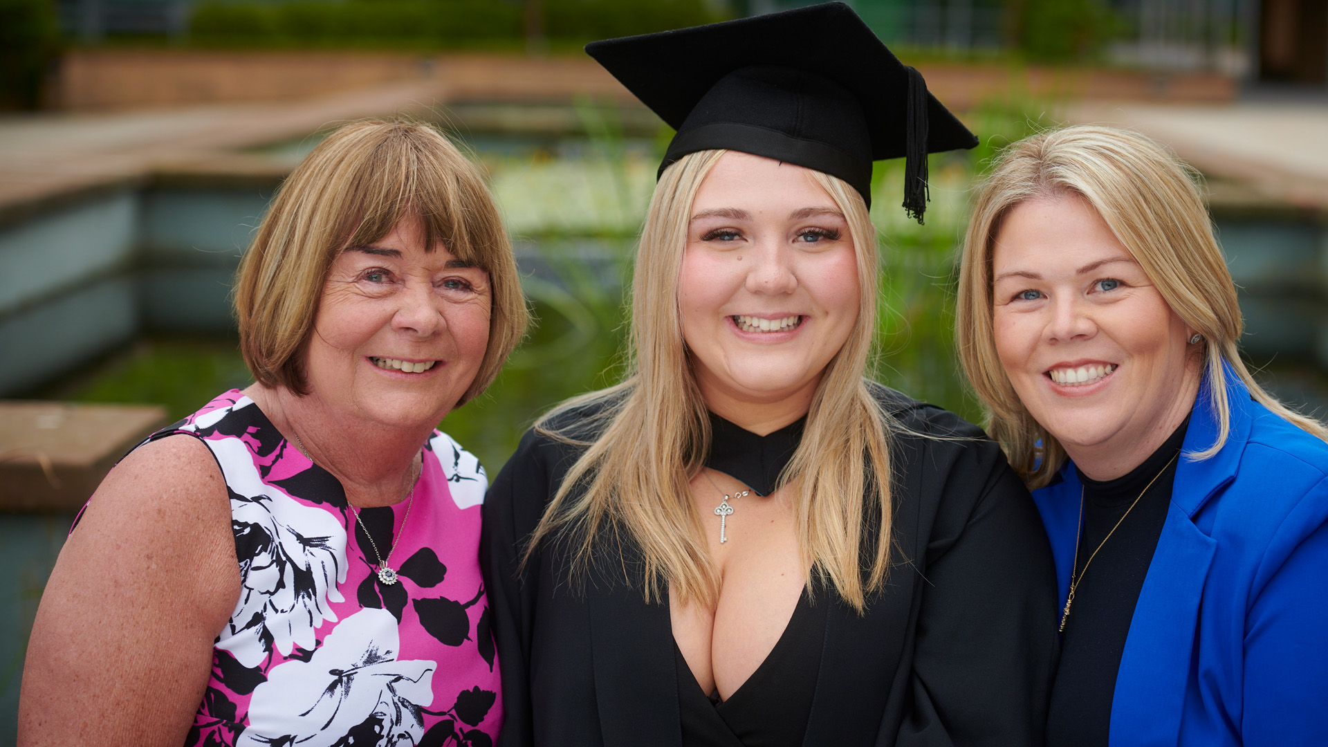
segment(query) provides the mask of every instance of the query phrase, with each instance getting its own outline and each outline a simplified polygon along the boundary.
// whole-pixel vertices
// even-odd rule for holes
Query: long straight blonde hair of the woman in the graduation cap
[[[672,589],[684,602],[706,606],[718,597],[720,576],[688,481],[709,452],[710,425],[683,344],[677,286],[692,202],[724,153],[683,157],[655,189],[632,279],[625,380],[568,400],[537,424],[586,451],[526,550],[529,560],[537,545],[558,538],[571,549],[574,576],[608,560],[622,564],[632,582],[623,554],[624,544],[632,542],[641,552],[635,580],[647,599],[667,597]],[[847,219],[862,298],[858,320],[826,367],[802,443],[778,484],[793,490],[803,566],[834,584],[861,611],[866,595],[884,581],[891,520],[890,420],[863,380],[876,316],[876,234],[853,187],[818,171],[813,175]],[[594,412],[590,423],[558,425],[560,416],[582,408]],[[869,532],[862,530],[865,517]]]

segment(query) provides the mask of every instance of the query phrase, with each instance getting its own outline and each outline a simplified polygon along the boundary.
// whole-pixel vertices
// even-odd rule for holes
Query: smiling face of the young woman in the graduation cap
[[[810,170],[728,152],[692,203],[677,299],[712,411],[805,413],[858,318],[849,223]]]

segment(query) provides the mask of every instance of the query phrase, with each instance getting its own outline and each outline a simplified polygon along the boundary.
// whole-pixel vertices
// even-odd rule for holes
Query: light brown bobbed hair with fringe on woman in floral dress
[[[240,352],[260,384],[308,393],[303,350],[332,261],[420,221],[425,247],[441,241],[489,274],[489,347],[457,405],[485,391],[526,331],[511,245],[481,171],[429,125],[352,122],[291,171],[235,279]]]

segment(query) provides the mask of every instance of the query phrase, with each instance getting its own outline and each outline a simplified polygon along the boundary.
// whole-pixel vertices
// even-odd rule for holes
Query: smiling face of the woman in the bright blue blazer
[[[1127,473],[1185,420],[1199,387],[1193,330],[1081,197],[1013,207],[992,278],[1005,374],[1089,477]]]

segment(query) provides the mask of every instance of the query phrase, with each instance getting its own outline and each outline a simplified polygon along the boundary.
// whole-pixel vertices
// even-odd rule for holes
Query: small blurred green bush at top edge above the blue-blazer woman
[[[1007,13],[1016,47],[1033,62],[1096,60],[1122,29],[1106,0],[1012,0]]]

